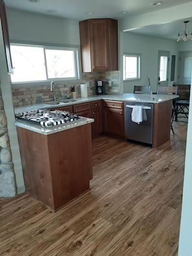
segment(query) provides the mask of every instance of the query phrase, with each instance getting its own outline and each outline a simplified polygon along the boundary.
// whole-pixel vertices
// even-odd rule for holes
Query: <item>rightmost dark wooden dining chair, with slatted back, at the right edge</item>
[[[176,99],[175,121],[178,121],[178,116],[188,119],[191,85],[176,85],[176,86],[178,87],[177,94],[179,97]]]

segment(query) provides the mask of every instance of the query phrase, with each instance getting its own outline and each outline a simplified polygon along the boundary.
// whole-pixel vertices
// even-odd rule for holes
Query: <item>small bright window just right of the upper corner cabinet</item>
[[[123,80],[140,79],[140,54],[123,55]]]

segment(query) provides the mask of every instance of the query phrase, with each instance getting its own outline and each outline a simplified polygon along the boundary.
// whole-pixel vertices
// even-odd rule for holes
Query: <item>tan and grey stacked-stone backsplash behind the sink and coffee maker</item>
[[[67,98],[68,92],[74,86],[76,98],[81,97],[80,84],[87,83],[88,97],[96,95],[94,81],[102,80],[104,84],[105,94],[119,94],[120,93],[120,71],[107,71],[107,72],[91,72],[83,73],[81,81],[78,83],[59,83],[54,81],[56,98]],[[109,87],[111,81],[111,87]],[[50,84],[45,85],[17,85],[12,87],[12,96],[14,107],[22,105],[31,105],[34,103],[43,103],[46,101],[54,100],[54,93],[50,91]]]

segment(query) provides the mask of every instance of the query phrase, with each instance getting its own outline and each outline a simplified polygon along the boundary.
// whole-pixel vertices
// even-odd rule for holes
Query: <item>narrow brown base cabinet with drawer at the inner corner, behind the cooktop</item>
[[[102,132],[101,100],[91,102],[91,118],[94,118],[94,123],[91,123],[92,138],[94,138]]]

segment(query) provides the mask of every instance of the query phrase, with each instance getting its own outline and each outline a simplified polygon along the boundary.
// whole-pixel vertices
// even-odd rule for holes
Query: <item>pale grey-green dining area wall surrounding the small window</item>
[[[173,85],[171,78],[171,55],[176,56],[175,79],[178,63],[178,43],[173,40],[148,37],[130,32],[123,33],[123,52],[141,54],[141,80],[124,81],[123,92],[133,92],[134,85],[149,85],[150,79],[152,92],[156,92],[158,83],[158,50],[170,52],[169,84]]]

